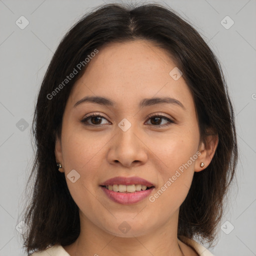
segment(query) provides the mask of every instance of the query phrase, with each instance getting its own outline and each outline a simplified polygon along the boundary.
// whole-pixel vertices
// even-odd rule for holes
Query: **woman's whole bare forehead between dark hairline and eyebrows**
[[[70,101],[74,104],[85,95],[105,96],[117,102],[138,102],[153,96],[191,101],[182,76],[174,80],[169,74],[175,67],[170,54],[149,41],[111,43],[90,59],[71,90]]]

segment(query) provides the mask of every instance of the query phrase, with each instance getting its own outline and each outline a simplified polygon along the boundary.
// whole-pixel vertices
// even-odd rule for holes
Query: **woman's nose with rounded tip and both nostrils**
[[[110,142],[108,161],[120,163],[125,167],[141,165],[147,160],[147,146],[143,141],[142,132],[132,124],[126,131],[116,128],[116,134]]]

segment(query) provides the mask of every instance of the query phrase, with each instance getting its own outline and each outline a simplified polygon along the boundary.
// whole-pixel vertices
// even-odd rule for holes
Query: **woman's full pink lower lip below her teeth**
[[[114,202],[121,203],[121,204],[133,204],[143,200],[147,197],[154,187],[151,187],[146,190],[140,190],[132,193],[122,193],[122,192],[115,192],[113,190],[108,190],[104,186],[100,186],[105,194],[108,196],[109,199],[113,200]]]

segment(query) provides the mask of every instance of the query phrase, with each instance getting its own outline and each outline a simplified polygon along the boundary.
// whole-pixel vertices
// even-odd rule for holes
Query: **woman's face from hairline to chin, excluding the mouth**
[[[199,168],[201,144],[192,94],[183,77],[170,72],[175,67],[167,52],[148,41],[112,43],[73,86],[55,155],[83,222],[132,237],[177,220]],[[85,96],[112,105],[80,101]],[[172,100],[140,106],[153,97]],[[116,202],[100,186],[116,176],[138,176],[154,187],[139,201]]]

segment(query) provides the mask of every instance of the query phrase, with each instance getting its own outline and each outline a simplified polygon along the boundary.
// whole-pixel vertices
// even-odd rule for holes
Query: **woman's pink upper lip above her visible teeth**
[[[154,186],[151,182],[137,177],[137,176],[133,176],[133,177],[113,177],[113,178],[109,178],[106,181],[104,181],[103,183],[101,183],[101,186],[106,186],[106,185],[113,185],[113,184],[123,184],[123,185],[132,185],[132,184],[141,184],[141,185],[146,185],[146,186]]]

